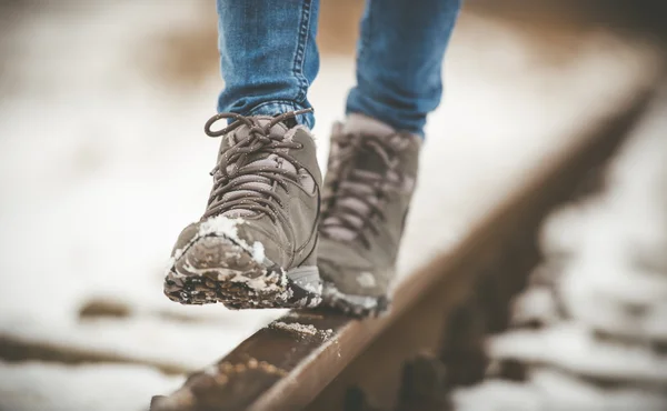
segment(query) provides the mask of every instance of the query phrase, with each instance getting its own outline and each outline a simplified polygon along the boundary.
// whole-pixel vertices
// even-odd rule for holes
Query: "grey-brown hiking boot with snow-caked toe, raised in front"
[[[321,174],[315,141],[293,118],[220,113],[206,126],[222,136],[213,188],[199,222],[180,234],[165,293],[183,304],[231,309],[315,307]],[[235,119],[220,131],[211,126]]]

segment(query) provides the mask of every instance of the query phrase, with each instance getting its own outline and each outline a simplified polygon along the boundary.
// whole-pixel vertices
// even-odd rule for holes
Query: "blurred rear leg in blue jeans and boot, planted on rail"
[[[329,305],[387,309],[417,179],[426,117],[442,93],[442,58],[459,0],[368,0],[357,87],[334,129],[318,265]]]

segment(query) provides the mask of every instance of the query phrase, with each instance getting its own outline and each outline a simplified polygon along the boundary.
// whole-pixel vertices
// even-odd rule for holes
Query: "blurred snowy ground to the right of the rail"
[[[547,219],[541,280],[515,301],[518,328],[488,341],[492,359],[528,365],[527,381],[459,390],[457,410],[667,409],[666,129],[667,88],[606,190]],[[520,328],[530,321],[545,327]]]

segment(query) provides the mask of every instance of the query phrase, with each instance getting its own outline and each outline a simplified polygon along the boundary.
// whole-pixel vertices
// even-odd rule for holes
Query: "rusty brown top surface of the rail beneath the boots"
[[[506,227],[508,214],[521,204],[544,203],[541,190],[546,186],[576,178],[567,170],[585,167],[596,156],[606,156],[605,147],[617,146],[651,96],[650,89],[643,89],[599,124],[591,124],[576,143],[545,162],[519,191],[498,204],[454,250],[401,279],[389,313],[358,321],[327,311],[291,311],[256,332],[216,364],[190,375],[172,394],[153,397],[150,410],[295,410],[310,403],[382,330],[407,312],[419,295],[444,277],[456,277],[462,260],[478,258],[476,253],[484,249],[480,243],[504,241],[506,232],[511,231]],[[498,231],[504,234],[489,237],[489,232]]]

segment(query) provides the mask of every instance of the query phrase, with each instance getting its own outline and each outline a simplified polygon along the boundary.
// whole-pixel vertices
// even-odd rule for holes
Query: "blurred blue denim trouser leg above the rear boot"
[[[367,0],[347,113],[424,137],[426,117],[440,103],[442,59],[460,3]]]

